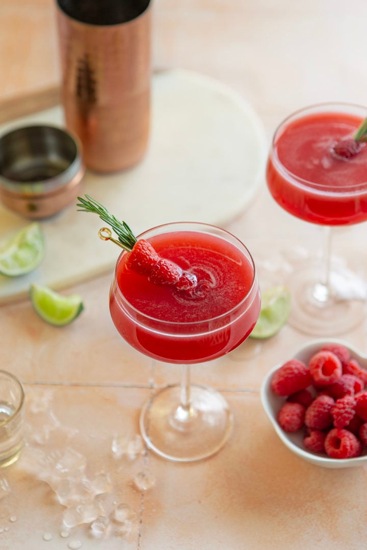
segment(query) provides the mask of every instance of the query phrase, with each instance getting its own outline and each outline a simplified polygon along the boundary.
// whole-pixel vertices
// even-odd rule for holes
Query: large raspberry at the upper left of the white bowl
[[[309,368],[298,359],[291,359],[273,374],[271,389],[277,395],[291,395],[305,389],[312,382]]]

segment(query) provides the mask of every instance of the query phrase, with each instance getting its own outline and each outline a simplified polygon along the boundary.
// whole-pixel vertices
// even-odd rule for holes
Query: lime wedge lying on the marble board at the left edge
[[[0,273],[18,277],[33,271],[45,254],[45,240],[38,222],[29,224],[0,248]]]

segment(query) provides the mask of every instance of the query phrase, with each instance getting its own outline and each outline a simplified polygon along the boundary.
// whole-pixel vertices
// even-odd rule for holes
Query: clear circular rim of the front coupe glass
[[[239,309],[239,307],[241,305],[243,305],[249,299],[250,295],[253,293],[255,283],[257,281],[257,272],[256,272],[256,266],[255,266],[253,256],[251,255],[251,252],[248,250],[247,246],[238,237],[235,237],[235,235],[233,235],[232,233],[230,233],[226,229],[223,229],[221,227],[214,226],[213,224],[209,224],[209,223],[205,223],[205,222],[168,222],[168,223],[162,223],[158,226],[155,226],[155,227],[152,227],[150,229],[145,230],[143,233],[140,233],[138,235],[137,239],[139,240],[139,238],[144,238],[144,235],[146,235],[147,233],[149,233],[151,231],[154,231],[156,229],[161,229],[161,228],[165,228],[165,227],[168,227],[168,226],[169,227],[174,227],[174,226],[183,226],[183,225],[197,226],[198,228],[207,227],[207,228],[212,228],[212,229],[215,229],[215,230],[219,230],[224,235],[229,235],[232,239],[237,241],[237,243],[243,247],[244,251],[247,252],[248,260],[250,261],[251,267],[253,267],[253,279],[251,281],[251,286],[250,286],[247,294],[242,298],[242,300],[240,300],[238,302],[238,304],[231,307],[231,309],[229,309],[228,311],[226,311],[224,313],[221,313],[221,315],[216,315],[215,317],[209,317],[207,319],[202,319],[200,321],[166,321],[164,319],[159,319],[157,317],[152,317],[151,315],[146,315],[146,313],[141,312],[136,307],[134,307],[132,304],[130,304],[130,302],[125,298],[125,296],[121,292],[121,290],[119,288],[119,285],[117,283],[116,270],[117,270],[118,263],[119,263],[120,259],[122,258],[122,256],[124,254],[127,254],[127,251],[123,250],[121,252],[121,254],[118,256],[118,259],[116,260],[116,265],[114,267],[114,272],[113,272],[113,282],[115,284],[115,287],[118,291],[119,296],[123,299],[124,303],[128,304],[129,308],[131,308],[132,311],[134,311],[140,317],[143,317],[147,321],[159,322],[159,323],[161,323],[163,325],[166,325],[166,326],[185,326],[185,327],[195,326],[195,325],[198,326],[200,324],[217,321],[217,320],[222,319],[223,317],[226,317],[227,315],[230,315],[233,311]],[[195,229],[188,229],[188,231],[195,232]],[[196,229],[196,232],[198,232],[198,231],[200,231],[200,229]],[[205,231],[201,230],[201,233],[205,233]],[[157,234],[162,234],[162,233],[157,233]],[[220,328],[223,328],[223,327],[220,327]]]

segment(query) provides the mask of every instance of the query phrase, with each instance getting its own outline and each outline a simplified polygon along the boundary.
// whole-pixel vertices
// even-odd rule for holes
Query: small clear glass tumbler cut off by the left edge
[[[24,389],[18,378],[0,370],[0,467],[18,460],[24,447]]]

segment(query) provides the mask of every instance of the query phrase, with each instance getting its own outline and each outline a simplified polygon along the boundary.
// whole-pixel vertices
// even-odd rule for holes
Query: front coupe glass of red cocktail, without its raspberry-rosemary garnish
[[[193,461],[216,453],[232,430],[232,414],[215,390],[190,383],[189,365],[236,348],[260,311],[255,265],[247,248],[223,229],[170,223],[140,235],[157,253],[194,274],[194,289],[154,284],[119,256],[109,309],[122,337],[158,361],[181,365],[181,382],[152,395],[140,416],[149,448],[166,459]]]

